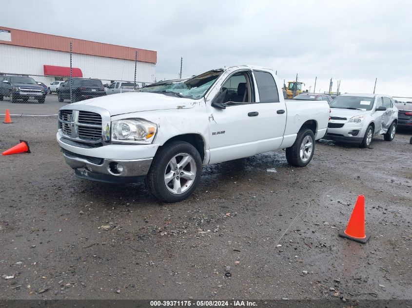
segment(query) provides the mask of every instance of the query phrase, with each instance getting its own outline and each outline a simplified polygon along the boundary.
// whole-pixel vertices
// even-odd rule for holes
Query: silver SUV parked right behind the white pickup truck
[[[325,139],[369,147],[372,138],[395,137],[398,109],[394,100],[381,94],[342,94],[330,104],[331,119]]]

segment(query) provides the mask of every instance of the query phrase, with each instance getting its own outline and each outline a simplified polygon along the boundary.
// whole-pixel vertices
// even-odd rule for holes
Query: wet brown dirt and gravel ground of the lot
[[[53,114],[53,99],[0,112]],[[282,150],[204,166],[167,204],[142,183],[76,178],[56,117],[13,121],[0,150],[23,139],[32,153],[0,159],[2,299],[412,299],[412,132],[317,142],[305,168]],[[365,245],[338,237],[360,194]]]

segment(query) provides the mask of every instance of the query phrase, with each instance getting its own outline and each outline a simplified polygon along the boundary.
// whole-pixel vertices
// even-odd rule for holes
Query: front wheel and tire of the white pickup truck
[[[183,160],[186,163],[179,166]],[[180,177],[182,173],[174,172],[173,165],[185,172],[187,179]],[[146,186],[163,202],[182,201],[196,189],[201,174],[202,162],[197,149],[187,142],[176,141],[163,145],[156,153],[146,177]],[[167,183],[166,176],[169,179]]]

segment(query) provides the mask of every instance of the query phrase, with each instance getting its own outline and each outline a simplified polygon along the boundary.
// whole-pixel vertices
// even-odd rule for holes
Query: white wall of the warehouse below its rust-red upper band
[[[43,65],[70,67],[70,53],[46,49],[0,44],[0,72],[27,74],[37,81],[50,84],[54,77],[44,76]],[[83,72],[83,78],[101,80],[126,80],[135,78],[135,61],[100,57],[88,54],[72,54],[72,67]],[[156,64],[137,62],[136,80],[152,83]],[[35,75],[39,75],[35,76]]]

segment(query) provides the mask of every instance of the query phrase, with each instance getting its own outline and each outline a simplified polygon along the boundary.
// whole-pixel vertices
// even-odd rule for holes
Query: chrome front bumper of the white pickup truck
[[[101,159],[98,163],[93,163],[87,157],[78,157],[75,153],[69,153],[62,150],[64,161],[73,169],[76,169],[76,175],[81,174],[82,178],[88,178],[88,173],[108,175],[110,178],[140,177],[146,176],[149,172],[153,158],[138,160],[112,160]],[[80,155],[81,156],[81,155]],[[97,159],[98,160],[98,159]],[[120,164],[123,170],[114,173],[113,164]],[[78,169],[84,169],[83,171]],[[94,180],[92,177],[90,180]],[[109,181],[109,180],[108,180]]]

